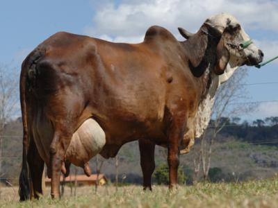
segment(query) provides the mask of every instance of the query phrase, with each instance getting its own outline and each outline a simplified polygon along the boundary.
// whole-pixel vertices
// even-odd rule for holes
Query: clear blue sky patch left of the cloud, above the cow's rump
[[[1,1],[0,62],[18,62],[20,55],[30,51],[57,31],[83,33],[92,21],[90,1]],[[25,55],[24,54],[24,55]]]

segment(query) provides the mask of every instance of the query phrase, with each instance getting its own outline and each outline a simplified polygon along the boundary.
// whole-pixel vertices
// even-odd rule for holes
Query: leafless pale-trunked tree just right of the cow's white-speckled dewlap
[[[247,114],[254,110],[255,105],[239,103],[247,99],[247,90],[244,82],[247,76],[247,69],[238,69],[234,75],[223,83],[215,96],[213,112],[210,124],[204,135],[201,137],[201,145],[196,161],[202,163],[202,171],[204,180],[208,180],[208,172],[211,167],[212,147],[218,133],[225,127],[231,125],[234,121],[230,117],[236,117],[240,114]],[[195,162],[195,166],[199,164]],[[199,171],[199,168],[195,168]],[[196,172],[197,172],[196,171]],[[199,172],[195,173],[198,174]]]

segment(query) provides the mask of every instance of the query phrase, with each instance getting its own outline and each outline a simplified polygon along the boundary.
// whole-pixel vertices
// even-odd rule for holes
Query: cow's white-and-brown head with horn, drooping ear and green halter
[[[195,35],[182,28],[179,28],[179,32],[186,39]],[[263,52],[254,45],[238,20],[232,15],[222,13],[206,19],[199,32],[205,32],[219,41],[215,66],[215,73],[218,75],[224,73],[228,63],[231,68],[234,68],[243,64],[257,65],[263,60]]]

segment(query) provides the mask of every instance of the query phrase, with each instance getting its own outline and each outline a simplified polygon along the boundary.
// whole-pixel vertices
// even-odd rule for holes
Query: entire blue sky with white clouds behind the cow
[[[0,3],[0,64],[18,67],[40,42],[57,31],[92,35],[116,42],[140,42],[149,26],[169,29],[179,40],[178,26],[195,32],[219,12],[230,12],[266,59],[278,55],[278,1],[270,0],[131,0],[15,1]],[[278,60],[262,69],[249,68],[247,83],[278,82]],[[278,100],[278,84],[247,86],[250,101]],[[277,103],[261,103],[254,117],[278,116]]]

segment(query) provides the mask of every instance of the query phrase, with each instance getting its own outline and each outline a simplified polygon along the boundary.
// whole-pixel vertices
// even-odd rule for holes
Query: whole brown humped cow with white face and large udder
[[[179,153],[188,152],[206,128],[220,83],[236,67],[262,61],[254,44],[243,48],[247,40],[227,14],[207,19],[185,42],[159,26],[149,28],[140,44],[70,33],[49,37],[22,64],[20,199],[42,193],[44,162],[51,196],[58,198],[60,171],[67,174],[70,163],[90,175],[91,157],[115,157],[123,144],[136,139],[144,189],[151,189],[156,144],[167,147],[173,187]]]

